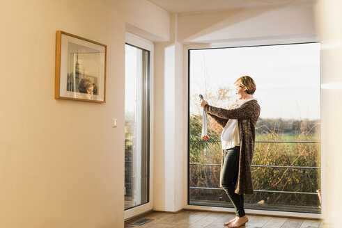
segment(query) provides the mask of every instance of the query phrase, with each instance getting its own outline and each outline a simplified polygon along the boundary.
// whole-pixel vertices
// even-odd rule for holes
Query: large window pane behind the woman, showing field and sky
[[[245,207],[320,213],[320,43],[189,50],[188,203],[233,207],[219,188],[221,128],[209,117],[201,138],[199,94],[228,108],[244,75],[261,106]]]

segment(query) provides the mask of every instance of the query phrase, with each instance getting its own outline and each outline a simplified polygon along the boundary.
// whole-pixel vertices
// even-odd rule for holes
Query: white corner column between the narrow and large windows
[[[173,37],[177,16],[171,17]],[[154,209],[182,209],[183,74],[182,44],[176,38],[155,45]]]

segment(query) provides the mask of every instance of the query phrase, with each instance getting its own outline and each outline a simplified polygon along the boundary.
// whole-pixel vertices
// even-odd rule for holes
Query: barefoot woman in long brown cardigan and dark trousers
[[[240,99],[233,109],[216,108],[201,99],[201,107],[223,127],[220,185],[235,207],[235,218],[224,223],[241,227],[248,222],[244,213],[244,194],[252,194],[251,159],[254,153],[256,121],[260,106],[254,99],[256,83],[250,76],[235,81],[235,94]]]

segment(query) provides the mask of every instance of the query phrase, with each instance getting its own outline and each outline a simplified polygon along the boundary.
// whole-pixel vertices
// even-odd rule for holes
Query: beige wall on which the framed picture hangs
[[[120,8],[109,0],[0,1],[0,227],[123,227]],[[54,99],[57,30],[107,44],[105,104]]]

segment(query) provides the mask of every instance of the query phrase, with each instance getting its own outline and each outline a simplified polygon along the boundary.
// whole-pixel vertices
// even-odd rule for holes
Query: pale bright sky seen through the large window
[[[236,100],[233,83],[244,75],[256,82],[260,117],[320,119],[320,43],[190,51],[191,113],[200,93],[228,88]]]

